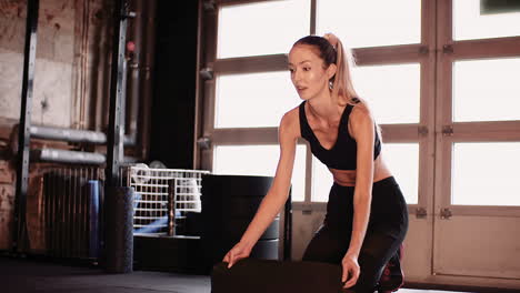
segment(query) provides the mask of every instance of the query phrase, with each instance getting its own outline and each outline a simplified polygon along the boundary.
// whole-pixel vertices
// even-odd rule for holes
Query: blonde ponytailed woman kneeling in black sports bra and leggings
[[[231,267],[248,257],[286,202],[297,140],[303,138],[334,180],[323,225],[303,261],[341,264],[344,287],[373,292],[408,230],[407,205],[380,153],[378,128],[367,103],[353,90],[344,50],[336,36],[298,40],[289,53],[289,70],[303,102],[283,115],[272,186],[223,261]]]

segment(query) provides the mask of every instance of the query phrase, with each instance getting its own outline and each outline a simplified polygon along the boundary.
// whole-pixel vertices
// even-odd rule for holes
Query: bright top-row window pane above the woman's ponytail
[[[421,1],[321,0],[317,32],[332,32],[349,48],[419,43]]]

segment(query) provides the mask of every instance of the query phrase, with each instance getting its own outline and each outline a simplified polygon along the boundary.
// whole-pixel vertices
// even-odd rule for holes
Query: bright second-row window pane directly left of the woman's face
[[[301,102],[288,72],[217,77],[216,128],[278,127]]]

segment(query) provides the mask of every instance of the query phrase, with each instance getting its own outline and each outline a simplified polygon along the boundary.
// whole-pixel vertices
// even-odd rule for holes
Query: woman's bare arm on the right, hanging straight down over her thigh
[[[356,284],[359,277],[358,256],[363,244],[370,218],[373,184],[373,148],[376,128],[364,104],[358,104],[349,119],[350,133],[358,146],[356,189],[353,195],[353,223],[349,249],[343,257],[343,281],[346,287]]]

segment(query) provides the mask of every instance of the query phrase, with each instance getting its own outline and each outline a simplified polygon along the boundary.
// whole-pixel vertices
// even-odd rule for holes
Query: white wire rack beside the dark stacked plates
[[[209,171],[126,168],[127,185],[134,190],[133,233],[183,235],[189,212],[201,211],[202,174]]]

